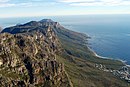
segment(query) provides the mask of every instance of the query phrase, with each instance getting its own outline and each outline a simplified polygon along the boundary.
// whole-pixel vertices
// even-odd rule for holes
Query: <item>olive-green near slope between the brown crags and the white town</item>
[[[57,60],[64,63],[74,87],[128,87],[125,81],[98,70],[91,62],[73,58],[72,63],[61,56],[57,56]]]

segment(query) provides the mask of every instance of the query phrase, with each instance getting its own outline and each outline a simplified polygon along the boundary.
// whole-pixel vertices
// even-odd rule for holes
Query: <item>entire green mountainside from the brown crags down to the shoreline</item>
[[[107,69],[118,70],[124,64],[118,60],[96,57],[87,47],[87,36],[60,29],[57,30],[57,35],[65,50],[57,55],[57,60],[64,63],[74,87],[130,87],[126,81],[95,67],[95,64],[102,64]]]

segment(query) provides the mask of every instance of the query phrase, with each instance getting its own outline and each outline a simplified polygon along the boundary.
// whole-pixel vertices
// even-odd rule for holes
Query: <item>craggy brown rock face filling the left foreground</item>
[[[0,86],[72,87],[64,64],[56,60],[62,50],[51,27],[22,34],[0,34]]]

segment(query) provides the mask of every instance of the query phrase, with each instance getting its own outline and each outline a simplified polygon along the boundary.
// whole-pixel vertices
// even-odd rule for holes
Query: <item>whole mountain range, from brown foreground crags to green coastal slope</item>
[[[95,56],[90,37],[51,19],[5,28],[0,38],[1,86],[129,86],[113,74],[125,66],[121,61]]]

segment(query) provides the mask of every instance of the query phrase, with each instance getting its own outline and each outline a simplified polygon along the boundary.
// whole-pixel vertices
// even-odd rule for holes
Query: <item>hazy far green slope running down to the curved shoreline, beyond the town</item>
[[[60,30],[58,30],[57,33],[61,41],[62,47],[65,49],[67,54],[80,59],[84,59],[87,62],[91,62],[94,64],[103,64],[110,69],[120,69],[122,66],[124,66],[124,64],[118,60],[103,59],[103,58],[96,57],[94,53],[87,47],[87,41],[86,41],[88,39],[87,36],[80,33],[78,34],[76,33],[75,35],[74,32],[73,32],[74,34],[73,33],[68,34],[68,32],[73,32],[73,31],[69,31],[69,30],[67,32],[64,31],[64,33],[62,32],[61,35]],[[78,39],[73,39],[70,37],[75,37]]]

